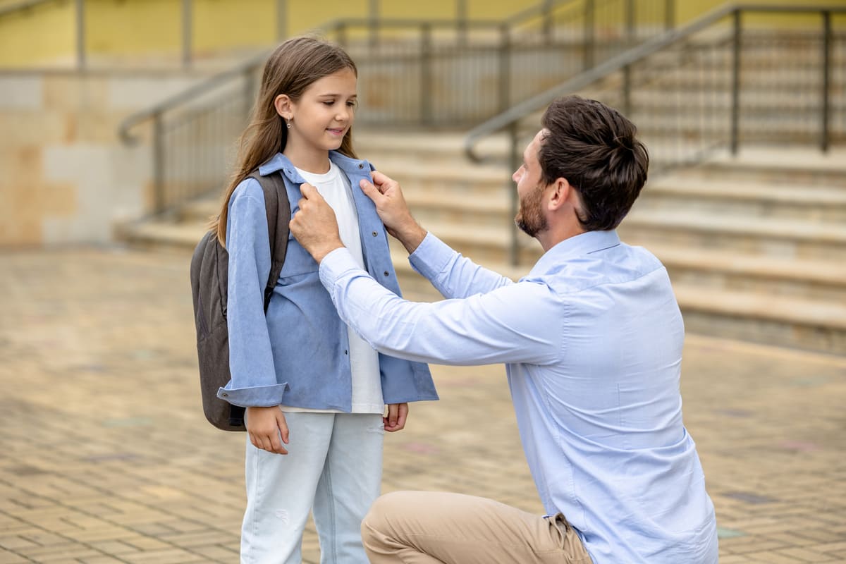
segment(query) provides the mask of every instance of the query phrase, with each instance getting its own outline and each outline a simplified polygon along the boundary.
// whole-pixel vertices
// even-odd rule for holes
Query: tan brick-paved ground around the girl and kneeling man
[[[244,437],[201,414],[187,262],[0,252],[0,564],[237,561]],[[502,368],[433,372],[383,489],[541,512]],[[689,336],[682,392],[722,563],[846,561],[846,359]]]

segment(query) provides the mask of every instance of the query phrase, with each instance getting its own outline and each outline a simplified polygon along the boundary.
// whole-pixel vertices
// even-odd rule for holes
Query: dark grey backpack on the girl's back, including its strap
[[[270,239],[271,268],[264,292],[264,309],[282,271],[288,250],[288,222],[291,204],[282,174],[261,176],[256,169],[247,178],[255,178],[265,195],[267,234]],[[217,390],[232,378],[229,373],[229,332],[226,323],[229,254],[209,231],[197,244],[191,257],[191,293],[194,296],[194,322],[197,330],[197,358],[200,361],[200,389],[203,412],[217,429],[244,431],[244,408],[217,397]]]

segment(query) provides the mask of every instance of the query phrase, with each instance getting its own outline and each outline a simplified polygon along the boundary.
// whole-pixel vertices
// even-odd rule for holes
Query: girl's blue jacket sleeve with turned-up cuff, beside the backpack
[[[232,380],[217,397],[244,407],[272,406],[282,403],[287,386],[277,383],[264,311],[270,274],[267,216],[261,187],[252,179],[245,183],[229,205],[227,324]]]

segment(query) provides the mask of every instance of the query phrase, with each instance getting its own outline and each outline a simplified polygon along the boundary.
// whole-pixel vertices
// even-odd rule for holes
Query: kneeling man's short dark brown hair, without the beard
[[[579,222],[586,231],[617,227],[649,168],[649,154],[634,138],[634,123],[602,102],[563,96],[547,107],[541,124],[548,129],[538,154],[542,183],[567,179],[581,196]]]

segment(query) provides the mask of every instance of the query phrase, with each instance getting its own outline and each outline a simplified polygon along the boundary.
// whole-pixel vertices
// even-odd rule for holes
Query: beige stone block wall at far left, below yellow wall
[[[118,125],[197,79],[0,74],[0,246],[107,242],[114,222],[145,211],[151,151],[121,144]]]

